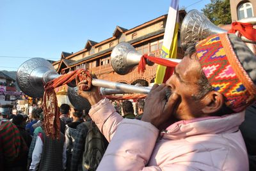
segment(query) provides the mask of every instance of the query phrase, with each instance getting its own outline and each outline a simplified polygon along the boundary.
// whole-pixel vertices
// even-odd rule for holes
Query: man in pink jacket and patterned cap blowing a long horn
[[[187,49],[166,84],[152,87],[141,121],[123,119],[98,87],[83,91],[80,82],[110,142],[98,170],[248,170],[239,125],[255,83],[256,56],[227,33]]]

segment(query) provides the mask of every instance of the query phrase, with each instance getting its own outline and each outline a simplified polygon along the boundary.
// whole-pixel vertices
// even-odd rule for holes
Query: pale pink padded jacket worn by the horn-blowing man
[[[110,142],[97,170],[248,170],[238,129],[244,112],[179,121],[161,135],[150,123],[123,119],[108,99],[90,116]]]

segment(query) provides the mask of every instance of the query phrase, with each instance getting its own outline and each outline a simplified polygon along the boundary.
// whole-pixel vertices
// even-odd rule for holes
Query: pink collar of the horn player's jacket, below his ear
[[[200,117],[191,120],[182,120],[173,123],[166,132],[161,133],[164,138],[180,139],[193,135],[215,134],[234,132],[244,121],[244,111],[236,114],[223,115],[221,117]]]

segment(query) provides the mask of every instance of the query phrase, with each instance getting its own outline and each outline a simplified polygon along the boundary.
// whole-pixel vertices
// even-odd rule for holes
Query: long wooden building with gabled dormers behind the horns
[[[180,25],[185,15],[186,11],[179,11]],[[60,74],[68,73],[68,71],[74,71],[79,68],[85,68],[95,73],[99,79],[132,85],[140,83],[141,85],[148,86],[150,83],[154,82],[157,64],[147,66],[143,74],[139,74],[135,68],[134,71],[127,75],[118,75],[111,66],[111,51],[115,45],[126,41],[131,43],[141,54],[154,54],[156,57],[159,57],[163,44],[166,19],[167,15],[163,15],[132,29],[116,26],[111,38],[100,41],[99,43],[88,40],[84,49],[72,54],[62,52],[60,61],[56,61],[52,65]],[[183,56],[184,52],[180,48],[179,43],[177,57],[182,58]]]

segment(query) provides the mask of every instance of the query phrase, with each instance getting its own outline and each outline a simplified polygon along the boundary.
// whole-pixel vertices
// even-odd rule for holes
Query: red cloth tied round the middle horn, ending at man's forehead
[[[151,61],[152,63],[156,64],[161,64],[163,66],[168,66],[168,67],[175,67],[178,63],[175,63],[173,61],[169,61],[168,59],[164,59],[161,57],[154,57],[154,56],[148,56],[147,54],[141,56],[140,63],[138,66],[138,72],[144,73],[146,70],[146,59]]]

